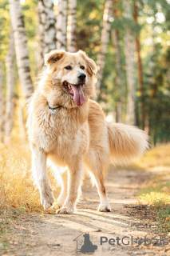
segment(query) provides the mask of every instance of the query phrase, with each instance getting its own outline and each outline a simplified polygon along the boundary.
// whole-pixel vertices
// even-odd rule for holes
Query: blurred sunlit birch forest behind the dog
[[[26,101],[53,49],[97,62],[107,121],[170,140],[169,0],[1,0],[0,30],[1,142],[26,141]]]

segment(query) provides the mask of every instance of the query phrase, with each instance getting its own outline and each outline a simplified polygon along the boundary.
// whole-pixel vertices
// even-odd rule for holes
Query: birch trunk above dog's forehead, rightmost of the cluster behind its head
[[[68,23],[67,23],[67,50],[71,53],[77,50],[76,7],[77,7],[77,0],[69,0],[69,15],[68,15]]]

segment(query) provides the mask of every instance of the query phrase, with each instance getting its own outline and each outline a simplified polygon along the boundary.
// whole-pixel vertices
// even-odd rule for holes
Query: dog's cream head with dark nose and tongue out
[[[64,106],[81,106],[95,92],[97,66],[85,52],[52,50],[45,54],[45,65],[52,77],[51,89]]]

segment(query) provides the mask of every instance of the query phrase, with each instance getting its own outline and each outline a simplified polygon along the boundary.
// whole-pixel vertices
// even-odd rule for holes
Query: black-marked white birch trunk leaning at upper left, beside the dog
[[[30,78],[30,62],[26,45],[26,30],[19,0],[10,0],[10,20],[14,31],[14,45],[17,57],[18,74],[22,84],[22,93],[26,101],[33,93],[33,83]]]

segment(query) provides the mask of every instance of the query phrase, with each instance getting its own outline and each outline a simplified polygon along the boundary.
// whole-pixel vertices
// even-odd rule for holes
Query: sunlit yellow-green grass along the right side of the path
[[[170,232],[170,145],[148,151],[134,163],[137,168],[153,171],[152,179],[138,192],[139,202],[154,210],[160,232]],[[159,174],[157,174],[159,172]]]

